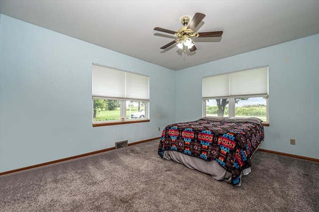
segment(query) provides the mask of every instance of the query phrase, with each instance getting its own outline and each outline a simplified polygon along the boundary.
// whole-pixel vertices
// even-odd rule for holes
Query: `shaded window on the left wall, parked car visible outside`
[[[93,125],[149,120],[148,76],[93,64],[92,78]]]

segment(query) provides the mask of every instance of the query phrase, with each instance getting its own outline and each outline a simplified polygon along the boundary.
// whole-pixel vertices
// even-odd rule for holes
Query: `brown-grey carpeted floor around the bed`
[[[237,188],[161,159],[158,143],[3,175],[0,211],[319,211],[319,163],[258,151]]]

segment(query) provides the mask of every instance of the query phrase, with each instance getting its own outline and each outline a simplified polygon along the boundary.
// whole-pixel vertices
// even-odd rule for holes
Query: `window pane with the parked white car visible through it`
[[[126,118],[145,118],[145,101],[126,101]]]

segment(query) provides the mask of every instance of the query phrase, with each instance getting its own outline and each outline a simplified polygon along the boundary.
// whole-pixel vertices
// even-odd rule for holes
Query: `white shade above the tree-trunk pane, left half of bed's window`
[[[229,97],[229,74],[204,77],[202,80],[202,97]]]

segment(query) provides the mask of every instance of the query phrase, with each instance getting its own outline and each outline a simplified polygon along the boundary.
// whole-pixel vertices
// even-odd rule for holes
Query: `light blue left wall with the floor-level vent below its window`
[[[2,14],[0,45],[0,172],[160,137],[175,121],[172,70]],[[149,75],[151,121],[92,127],[92,63]]]

